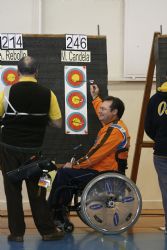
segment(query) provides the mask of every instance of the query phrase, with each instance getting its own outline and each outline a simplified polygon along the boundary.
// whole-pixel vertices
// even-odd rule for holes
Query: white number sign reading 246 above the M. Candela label
[[[87,50],[87,36],[66,35],[67,50]]]

